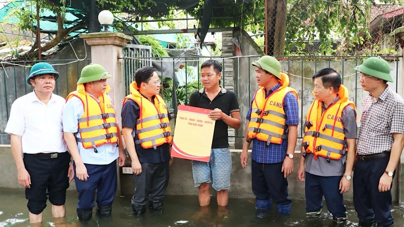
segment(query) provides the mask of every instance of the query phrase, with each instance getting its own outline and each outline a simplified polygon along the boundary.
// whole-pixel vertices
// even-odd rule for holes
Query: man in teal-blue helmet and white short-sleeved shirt
[[[14,101],[5,130],[11,136],[18,182],[25,187],[31,223],[42,221],[47,199],[54,217],[65,216],[66,189],[73,180],[63,138],[65,99],[52,93],[58,78],[59,73],[48,63],[35,64],[26,80],[34,91]]]

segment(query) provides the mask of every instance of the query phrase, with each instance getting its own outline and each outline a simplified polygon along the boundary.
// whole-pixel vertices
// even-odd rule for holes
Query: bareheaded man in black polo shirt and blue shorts
[[[219,86],[222,66],[215,60],[208,60],[200,66],[201,82],[204,88],[195,91],[189,98],[189,105],[213,109],[209,117],[216,121],[209,162],[192,161],[192,175],[195,187],[198,187],[200,206],[207,206],[211,201],[209,187],[211,171],[212,187],[217,191],[219,206],[228,203],[227,190],[230,187],[231,155],[227,128],[240,128],[240,110],[236,94]]]

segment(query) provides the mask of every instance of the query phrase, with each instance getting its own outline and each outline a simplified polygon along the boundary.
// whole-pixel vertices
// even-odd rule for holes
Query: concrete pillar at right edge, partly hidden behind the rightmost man
[[[398,61],[398,79],[397,79],[397,93],[404,98],[404,27],[397,28],[394,32],[390,33],[389,36],[393,37],[400,44],[400,58]],[[400,161],[396,168],[396,179],[397,179],[397,201],[399,203],[404,202],[404,181],[401,181],[401,176],[404,176],[404,152],[401,152]],[[394,181],[393,181],[394,182]],[[394,182],[395,183],[395,182]],[[393,183],[393,184],[394,184]]]

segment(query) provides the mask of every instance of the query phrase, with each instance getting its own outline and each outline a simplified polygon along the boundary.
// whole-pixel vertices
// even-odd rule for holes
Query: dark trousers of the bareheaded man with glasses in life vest
[[[132,197],[132,205],[135,208],[141,208],[147,201],[161,204],[170,178],[169,162],[140,164],[142,173],[133,175],[135,193]]]

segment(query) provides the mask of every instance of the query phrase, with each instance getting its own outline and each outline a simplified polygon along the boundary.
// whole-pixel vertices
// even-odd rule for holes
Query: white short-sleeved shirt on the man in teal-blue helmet
[[[5,132],[22,136],[23,153],[62,153],[68,150],[63,138],[65,99],[52,94],[47,104],[35,92],[17,98],[11,106]]]

